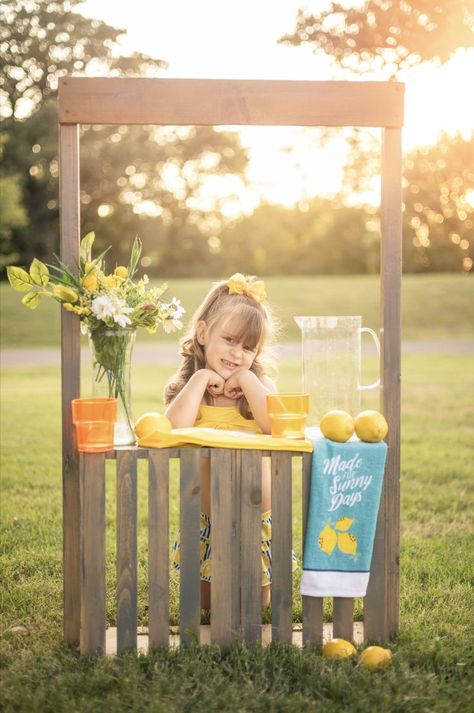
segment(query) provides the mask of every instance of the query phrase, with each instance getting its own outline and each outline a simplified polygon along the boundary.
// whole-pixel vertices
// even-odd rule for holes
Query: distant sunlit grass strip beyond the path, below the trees
[[[206,294],[211,280],[173,280],[176,295],[191,314]],[[270,277],[265,280],[270,303],[283,326],[283,339],[299,339],[293,315],[362,315],[363,324],[379,328],[379,278],[369,275]],[[59,344],[60,307],[43,300],[35,312],[21,302],[21,294],[0,285],[2,347],[51,347]],[[402,289],[404,339],[472,339],[474,279],[467,274],[407,275]],[[172,342],[173,335],[150,336],[140,330],[141,342]]]

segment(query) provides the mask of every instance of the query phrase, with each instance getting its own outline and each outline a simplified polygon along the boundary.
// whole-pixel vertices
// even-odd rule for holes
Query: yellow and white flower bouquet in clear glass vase
[[[81,331],[89,335],[96,393],[117,398],[119,421],[115,445],[135,443],[130,408],[130,359],[137,327],[150,333],[160,325],[165,332],[181,329],[185,310],[175,297],[162,300],[167,285],[149,287],[147,275],[134,281],[142,244],[135,238],[127,267],[105,270],[104,257],[110,248],[92,259],[95,233],[88,233],[80,244],[77,270],[71,270],[59,258],[56,265],[46,265],[34,258],[27,272],[21,267],[7,267],[14,290],[26,292],[22,303],[36,309],[43,297],[52,298],[64,309],[77,314]]]

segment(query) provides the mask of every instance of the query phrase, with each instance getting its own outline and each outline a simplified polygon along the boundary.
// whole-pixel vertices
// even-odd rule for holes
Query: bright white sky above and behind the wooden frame
[[[325,0],[85,0],[78,9],[126,29],[121,39],[125,52],[141,51],[166,60],[163,77],[326,80],[337,78],[329,59],[316,57],[309,45],[277,43],[294,29],[298,8],[324,4]],[[473,74],[474,50],[461,50],[442,68],[419,67],[404,78],[405,151],[434,142],[442,130],[467,135],[474,128],[474,95],[465,84],[465,77]],[[255,207],[259,196],[291,206],[338,190],[342,141],[336,139],[322,152],[313,146],[310,128],[238,130],[250,154],[247,175],[252,188],[242,197],[246,210]],[[377,190],[374,186],[374,201]]]

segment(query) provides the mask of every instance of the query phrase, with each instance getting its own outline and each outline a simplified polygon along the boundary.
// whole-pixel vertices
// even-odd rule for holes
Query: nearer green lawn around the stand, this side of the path
[[[369,369],[374,368],[371,361]],[[282,389],[298,386],[298,364],[285,362],[280,372]],[[135,370],[135,415],[161,408],[162,386],[169,373],[170,369],[153,366]],[[401,630],[392,643],[392,665],[370,673],[353,661],[327,662],[318,648],[272,645],[262,650],[235,645],[223,653],[216,647],[198,647],[98,660],[78,657],[61,644],[59,372],[45,367],[38,378],[33,368],[4,369],[0,649],[4,710],[465,713],[474,695],[473,387],[469,356],[403,359]],[[112,478],[110,472],[109,590],[114,583]],[[172,481],[171,518],[176,529],[176,475]],[[140,472],[141,623],[146,623],[145,486],[145,473]],[[293,495],[295,549],[300,554],[297,482]],[[296,617],[300,614],[297,587],[298,577]],[[326,617],[329,613],[327,609]],[[114,616],[109,592],[109,624]],[[171,616],[177,616],[175,592]],[[12,631],[15,626],[25,631]]]

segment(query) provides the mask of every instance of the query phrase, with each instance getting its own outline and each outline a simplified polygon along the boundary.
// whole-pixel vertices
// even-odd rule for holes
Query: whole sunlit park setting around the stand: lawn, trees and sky
[[[112,711],[319,705],[327,711],[456,711],[472,701],[472,3],[313,3],[313,14],[298,19],[299,3],[283,4],[284,13],[274,3],[242,2],[224,15],[226,8],[217,10],[215,3],[184,0],[155,10],[136,2],[135,11],[127,3],[92,0],[0,2],[1,261],[28,266],[33,256],[49,262],[58,251],[60,76],[406,82],[402,596],[393,664],[374,677],[353,662],[325,662],[317,649],[236,647],[226,654],[211,648],[95,661],[62,646],[59,306],[47,302],[30,312],[4,283],[0,665],[8,711],[86,711],[104,701]],[[130,25],[130,33],[112,25]],[[365,325],[380,326],[378,131],[82,131],[82,234],[95,230],[98,249],[112,244],[113,267],[126,263],[138,233],[143,271],[169,282],[170,295],[188,313],[214,279],[236,270],[264,276],[283,326],[282,390],[300,387],[293,315],[357,312]],[[173,335],[139,336],[136,416],[161,409],[176,346]],[[366,355],[365,376],[377,367]],[[375,395],[365,405],[376,406]],[[145,480],[141,472],[142,583]],[[301,556],[300,498],[295,482],[294,537]],[[107,508],[107,613],[113,624],[112,473]],[[176,507],[171,515],[176,523]],[[298,575],[294,595],[298,618]],[[144,625],[145,606],[142,588]],[[356,618],[361,615],[359,602]],[[329,607],[325,616],[331,617]]]

